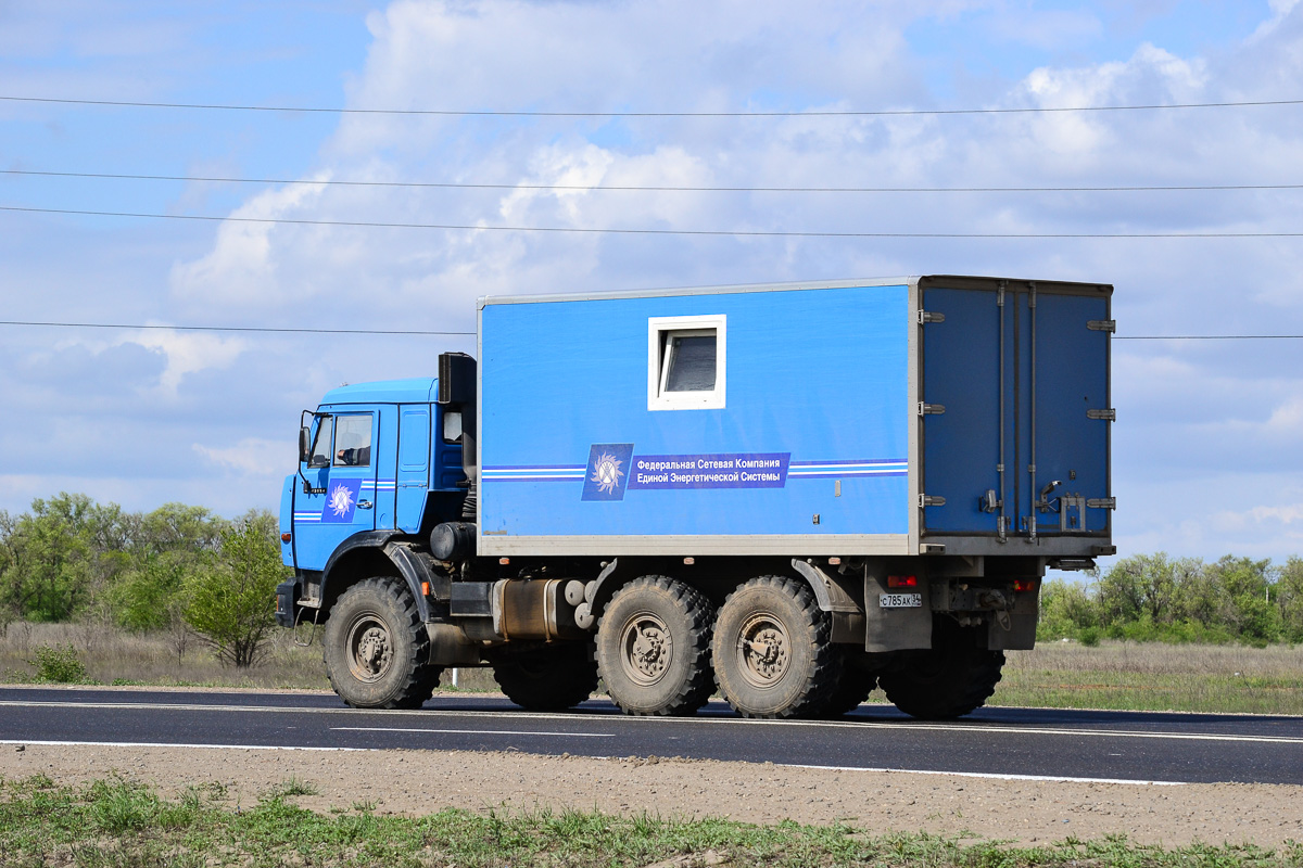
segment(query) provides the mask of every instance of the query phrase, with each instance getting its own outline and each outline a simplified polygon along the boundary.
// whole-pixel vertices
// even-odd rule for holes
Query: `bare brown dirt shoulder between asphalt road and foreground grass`
[[[59,783],[116,773],[168,796],[188,786],[222,783],[229,807],[254,804],[259,794],[294,778],[311,783],[317,794],[293,802],[323,812],[366,806],[377,813],[422,815],[448,806],[550,806],[762,824],[844,820],[874,833],[928,830],[1024,845],[1114,833],[1169,846],[1303,841],[1299,786],[995,781],[515,752],[0,746],[0,776],[38,773]]]

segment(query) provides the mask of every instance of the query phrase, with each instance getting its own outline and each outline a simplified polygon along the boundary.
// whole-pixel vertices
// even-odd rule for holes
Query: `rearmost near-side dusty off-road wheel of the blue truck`
[[[728,595],[715,621],[721,692],[743,717],[817,714],[842,675],[831,631],[831,618],[805,583],[751,579]]]

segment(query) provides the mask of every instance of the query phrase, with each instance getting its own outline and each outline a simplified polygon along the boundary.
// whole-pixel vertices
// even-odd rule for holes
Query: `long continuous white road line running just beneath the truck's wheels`
[[[1174,739],[1192,742],[1248,742],[1255,744],[1303,744],[1303,737],[1296,735],[1240,735],[1235,733],[1173,733],[1162,730],[1118,730],[1118,729],[1081,729],[1057,726],[1018,726],[1011,724],[982,724],[969,721],[959,724],[926,724],[920,721],[773,721],[739,717],[638,717],[631,718],[623,714],[554,714],[543,712],[525,711],[444,711],[444,709],[413,709],[413,711],[379,711],[364,708],[305,708],[294,705],[199,705],[194,703],[59,703],[59,701],[16,701],[0,700],[3,707],[22,708],[96,708],[96,709],[154,709],[154,711],[188,711],[188,712],[278,712],[281,714],[383,714],[383,716],[420,716],[434,717],[477,717],[482,720],[556,720],[556,721],[602,721],[614,725],[631,725],[637,720],[654,725],[684,726],[692,724],[732,725],[732,726],[797,726],[817,729],[887,729],[887,730],[920,730],[962,733],[981,735],[988,733],[1001,735],[1081,735],[1093,738],[1143,738],[1143,739]]]

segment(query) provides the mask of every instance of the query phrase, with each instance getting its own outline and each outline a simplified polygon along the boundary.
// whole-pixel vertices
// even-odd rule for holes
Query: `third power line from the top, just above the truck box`
[[[0,206],[0,211],[61,213],[87,217],[143,217],[150,220],[201,220],[207,223],[284,224],[301,226],[349,226],[371,229],[443,229],[468,232],[546,232],[616,236],[696,236],[735,238],[1303,238],[1303,232],[782,232],[765,229],[620,229],[582,226],[491,226],[448,223],[382,223],[371,220],[306,220],[294,217],[236,217],[197,213],[147,213],[137,211],[83,211]]]

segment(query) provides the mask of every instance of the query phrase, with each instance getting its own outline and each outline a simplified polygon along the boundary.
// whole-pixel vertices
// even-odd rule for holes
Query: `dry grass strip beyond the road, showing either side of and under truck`
[[[287,630],[275,631],[268,661],[238,670],[223,666],[193,636],[179,653],[175,636],[167,634],[136,635],[103,625],[13,623],[0,635],[0,681],[40,681],[42,649],[47,648],[76,653],[85,671],[70,683],[330,690],[319,635],[306,648],[293,639]],[[990,705],[1303,714],[1303,645],[1045,643],[1006,656]],[[70,661],[61,662],[73,669],[66,665]],[[444,690],[452,690],[451,674],[443,675]],[[496,688],[487,669],[459,671],[459,691]],[[886,701],[881,692],[872,700]]]

